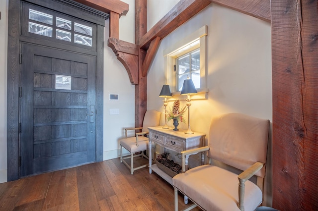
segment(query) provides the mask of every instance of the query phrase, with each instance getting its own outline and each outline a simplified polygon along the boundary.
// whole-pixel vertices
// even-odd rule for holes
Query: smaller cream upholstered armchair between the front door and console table
[[[145,113],[143,120],[143,127],[130,127],[125,128],[125,139],[121,139],[120,143],[120,162],[123,162],[130,169],[131,174],[134,174],[134,170],[146,167],[147,164],[141,165],[134,168],[134,157],[142,156],[148,158],[144,154],[145,150],[149,149],[149,138],[148,138],[148,127],[159,126],[160,112],[157,110],[148,110]],[[135,130],[142,131],[135,133],[133,137],[127,137],[127,131]],[[130,156],[123,157],[123,148],[130,152]],[[134,155],[135,153],[141,152],[141,154]],[[130,165],[125,159],[130,158]],[[149,159],[149,158],[148,158]]]

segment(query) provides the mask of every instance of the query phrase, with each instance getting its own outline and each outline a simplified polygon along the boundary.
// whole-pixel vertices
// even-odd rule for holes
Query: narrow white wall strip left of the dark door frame
[[[0,183],[6,182],[6,81],[8,0],[0,0]]]

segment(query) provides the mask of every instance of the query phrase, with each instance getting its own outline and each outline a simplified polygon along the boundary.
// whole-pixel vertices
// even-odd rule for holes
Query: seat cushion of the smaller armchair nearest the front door
[[[138,137],[138,147],[136,146],[136,137],[130,137],[119,141],[120,145],[123,146],[130,153],[137,153],[143,150],[149,149],[149,138],[145,136]]]

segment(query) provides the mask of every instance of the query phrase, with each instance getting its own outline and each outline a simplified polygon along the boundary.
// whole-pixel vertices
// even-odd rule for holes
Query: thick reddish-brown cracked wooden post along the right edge
[[[271,0],[273,206],[318,209],[318,0]]]

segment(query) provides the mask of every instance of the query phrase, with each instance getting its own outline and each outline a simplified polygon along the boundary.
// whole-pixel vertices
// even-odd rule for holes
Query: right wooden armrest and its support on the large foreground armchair
[[[264,166],[262,162],[255,162],[245,171],[239,174],[239,210],[244,210],[244,194],[245,194],[245,182],[251,178],[257,171]]]

